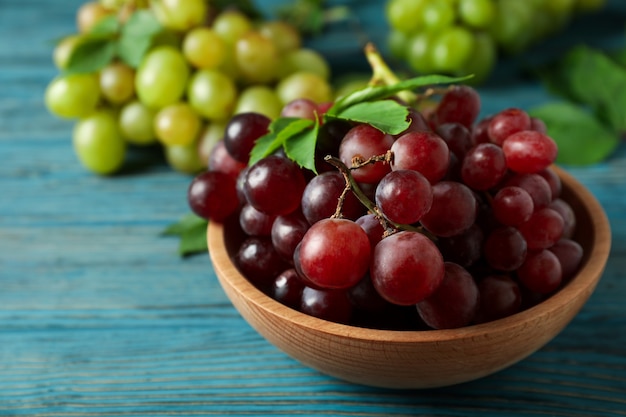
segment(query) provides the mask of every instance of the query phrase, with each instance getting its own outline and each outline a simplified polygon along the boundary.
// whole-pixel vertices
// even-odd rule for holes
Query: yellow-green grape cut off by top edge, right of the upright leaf
[[[207,18],[205,0],[152,0],[150,8],[166,28],[185,32]]]

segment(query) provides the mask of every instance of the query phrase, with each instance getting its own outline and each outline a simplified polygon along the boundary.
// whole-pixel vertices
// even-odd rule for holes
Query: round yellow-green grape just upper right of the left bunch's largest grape
[[[207,27],[192,29],[183,40],[183,54],[196,68],[217,68],[226,55],[226,43]]]

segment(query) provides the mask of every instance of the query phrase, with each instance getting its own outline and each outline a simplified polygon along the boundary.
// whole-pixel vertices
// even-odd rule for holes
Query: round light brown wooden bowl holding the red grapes
[[[232,263],[229,235],[222,224],[208,227],[209,253],[224,291],[244,319],[269,342],[311,368],[387,388],[432,388],[471,381],[522,360],[553,339],[582,308],[604,271],[611,245],[604,210],[571,175],[558,167],[555,170],[563,183],[562,198],[577,216],[575,239],[585,251],[580,271],[545,301],[489,323],[426,331],[332,323],[286,307],[255,288]]]

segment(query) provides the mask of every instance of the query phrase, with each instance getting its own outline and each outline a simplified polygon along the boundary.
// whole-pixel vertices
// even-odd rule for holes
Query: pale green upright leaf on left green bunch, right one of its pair
[[[122,61],[137,68],[163,27],[147,10],[138,10],[122,27],[117,53]]]

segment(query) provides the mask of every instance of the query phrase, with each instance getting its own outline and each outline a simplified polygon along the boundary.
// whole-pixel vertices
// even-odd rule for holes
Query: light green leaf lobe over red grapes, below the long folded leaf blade
[[[409,127],[406,106],[394,100],[379,100],[358,103],[340,112],[337,117],[359,123],[368,123],[375,128],[396,135]]]

